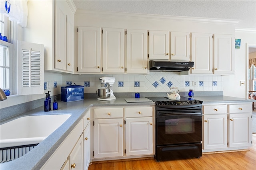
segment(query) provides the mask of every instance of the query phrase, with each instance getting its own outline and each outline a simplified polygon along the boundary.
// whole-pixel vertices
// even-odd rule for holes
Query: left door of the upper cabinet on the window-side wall
[[[66,70],[66,1],[55,1],[55,68]],[[74,41],[74,40],[73,40]]]

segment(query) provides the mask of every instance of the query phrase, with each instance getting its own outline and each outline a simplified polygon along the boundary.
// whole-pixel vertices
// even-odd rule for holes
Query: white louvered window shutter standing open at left
[[[44,94],[44,45],[18,41],[18,94]]]

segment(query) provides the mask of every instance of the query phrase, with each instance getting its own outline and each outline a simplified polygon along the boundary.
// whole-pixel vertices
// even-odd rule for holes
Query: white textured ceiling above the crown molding
[[[77,9],[240,20],[256,29],[256,0],[73,0]]]

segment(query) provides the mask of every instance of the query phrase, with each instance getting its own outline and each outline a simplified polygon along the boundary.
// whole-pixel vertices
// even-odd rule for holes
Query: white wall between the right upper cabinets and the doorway
[[[246,43],[256,43],[256,31],[236,31],[235,39],[241,39],[240,49],[235,49],[235,74],[224,76],[223,95],[248,98],[248,84],[240,86],[240,81],[246,82]]]

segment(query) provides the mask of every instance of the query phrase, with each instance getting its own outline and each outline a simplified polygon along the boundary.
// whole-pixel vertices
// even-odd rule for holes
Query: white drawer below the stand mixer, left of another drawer
[[[97,108],[94,109],[94,119],[123,117],[123,108]]]

